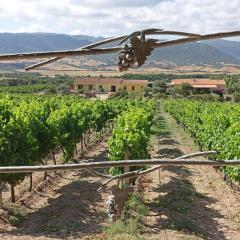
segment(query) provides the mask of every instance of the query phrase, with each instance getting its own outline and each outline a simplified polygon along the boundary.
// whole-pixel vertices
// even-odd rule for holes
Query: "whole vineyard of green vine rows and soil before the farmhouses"
[[[181,158],[184,154],[198,150],[189,148],[189,142],[183,143],[177,123],[191,134],[200,150],[217,151],[211,159],[240,157],[240,109],[237,104],[164,100],[160,104],[163,111],[160,111],[159,103],[149,99],[100,101],[77,96],[4,93],[0,96],[1,166],[67,166],[82,162],[95,164],[95,161],[110,160],[116,163],[119,160],[149,161],[154,158],[180,161],[184,159]],[[102,154],[103,150],[106,155]],[[239,180],[239,168],[223,167],[221,170]],[[134,177],[129,179],[118,178],[129,171],[147,174],[142,177],[132,175]],[[165,239],[165,234],[169,239],[190,236],[196,238],[189,239],[224,239],[225,235],[218,231],[215,220],[203,220],[212,214],[219,221],[227,219],[229,229],[238,234],[234,225],[238,198],[230,188],[224,188],[229,195],[229,202],[225,202],[225,198],[221,197],[221,178],[212,167],[173,165],[148,168],[138,164],[105,167],[103,171],[89,168],[89,174],[83,172],[65,171],[60,175],[56,172],[47,175],[45,172],[44,179],[37,173],[33,173],[33,177],[32,173],[0,174],[4,200],[2,211],[5,211],[1,212],[0,222],[2,219],[13,222],[12,225],[19,231],[31,235],[29,239],[34,239],[36,233],[44,239],[59,239],[60,235],[71,239],[74,234],[76,239],[141,239],[142,232],[143,239]],[[28,177],[30,182],[26,182]],[[34,178],[37,180],[33,181]],[[208,179],[211,179],[214,188],[209,187]],[[19,197],[18,189],[26,183],[36,184],[36,187],[29,189],[31,192],[27,197]],[[127,195],[128,200],[124,200],[126,203],[120,218],[117,210],[111,208],[116,199],[109,199],[109,194],[112,197],[113,193],[110,189],[117,187],[117,191],[125,193],[129,186],[134,192]],[[10,194],[6,189],[10,190]],[[207,207],[214,205],[208,195],[225,206],[221,210],[222,217],[214,215]],[[16,203],[9,205],[6,196]],[[106,211],[106,200],[108,210],[112,210],[107,212],[108,215],[102,214],[103,209]],[[21,215],[22,209],[28,212],[26,216]],[[117,221],[115,216],[119,217]],[[106,223],[108,217],[113,220],[111,224]],[[102,224],[105,224],[104,228],[100,228]],[[92,226],[94,231],[91,231],[97,234],[96,238],[88,230]],[[160,230],[159,235],[149,229],[151,226]],[[219,223],[219,226],[222,225]],[[12,239],[11,234],[15,233],[3,235],[3,239]],[[26,236],[23,234],[20,239]]]

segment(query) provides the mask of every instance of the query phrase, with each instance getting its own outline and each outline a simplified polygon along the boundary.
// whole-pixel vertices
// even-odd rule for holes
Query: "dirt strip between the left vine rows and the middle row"
[[[107,144],[101,142],[86,154],[86,161],[107,158]],[[108,193],[98,193],[99,178],[87,172],[62,173],[57,182],[49,180],[42,191],[37,189],[24,205],[26,220],[15,229],[0,234],[0,239],[98,239],[104,238],[105,202]]]

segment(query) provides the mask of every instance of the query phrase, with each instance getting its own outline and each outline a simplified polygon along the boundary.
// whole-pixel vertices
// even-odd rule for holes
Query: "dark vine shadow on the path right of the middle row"
[[[183,155],[179,143],[167,131],[164,119],[161,119],[160,125],[164,134],[159,136],[157,155],[171,159]],[[166,166],[162,170],[170,175],[174,173],[174,176],[167,183],[152,189],[159,194],[148,207],[159,217],[156,224],[149,228],[156,229],[156,233],[159,230],[172,229],[203,239],[225,239],[215,221],[222,217],[221,214],[208,207],[217,200],[196,191],[187,179],[192,175],[191,170],[184,166]]]

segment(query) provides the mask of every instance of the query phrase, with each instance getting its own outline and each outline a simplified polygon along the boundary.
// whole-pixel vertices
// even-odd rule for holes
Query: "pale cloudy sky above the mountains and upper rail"
[[[240,0],[0,0],[0,32],[115,36],[148,27],[240,30]]]

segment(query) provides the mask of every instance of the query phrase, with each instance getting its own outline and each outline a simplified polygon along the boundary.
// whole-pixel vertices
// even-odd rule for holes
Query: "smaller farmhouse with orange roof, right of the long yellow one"
[[[224,80],[215,79],[173,79],[170,86],[188,83],[195,89],[209,89],[213,91],[224,91],[226,83]]]

